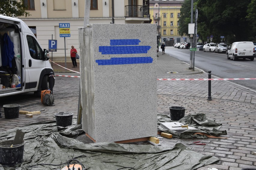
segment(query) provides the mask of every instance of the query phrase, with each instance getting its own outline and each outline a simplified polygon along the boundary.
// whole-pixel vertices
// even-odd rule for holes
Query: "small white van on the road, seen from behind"
[[[255,48],[253,42],[234,42],[227,51],[227,59],[233,58],[236,59],[250,59],[254,60],[255,57]]]

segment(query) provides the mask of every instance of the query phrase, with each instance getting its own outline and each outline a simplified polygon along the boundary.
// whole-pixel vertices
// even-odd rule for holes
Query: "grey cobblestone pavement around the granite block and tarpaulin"
[[[168,54],[161,54],[157,57],[157,78],[208,78],[207,73],[200,69],[195,68],[195,71],[192,71],[188,67],[189,65]],[[166,73],[170,71],[178,73]],[[55,74],[79,75],[78,73]],[[40,115],[34,115],[33,118],[27,118],[25,115],[20,115],[19,118],[13,120],[0,118],[0,131],[29,123],[55,120],[54,113],[60,111],[74,112],[74,117],[76,117],[79,82],[79,78],[56,77],[53,88],[54,106],[42,105],[40,98],[34,97],[33,94],[2,98],[2,113],[2,105],[10,104],[10,102],[20,104],[20,110],[38,111],[44,109],[44,111]],[[220,130],[227,131],[227,135],[222,136],[228,137],[228,139],[200,139],[201,142],[206,143],[205,146],[188,147],[220,159],[217,163],[201,167],[198,170],[207,170],[209,167],[219,170],[256,168],[256,155],[252,154],[253,151],[256,152],[256,92],[235,82],[217,80],[212,81],[211,91],[212,100],[209,101],[207,100],[208,81],[159,80],[157,81],[157,112],[169,115],[170,106],[185,106],[185,115],[204,113],[208,119],[222,123]],[[192,141],[198,141],[198,139],[160,139],[163,147],[173,147],[176,143]]]

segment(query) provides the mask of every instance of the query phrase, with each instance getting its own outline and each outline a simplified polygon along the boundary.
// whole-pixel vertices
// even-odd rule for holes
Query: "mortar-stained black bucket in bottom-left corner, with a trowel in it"
[[[13,145],[13,140],[0,142],[0,164],[6,166],[14,166],[23,162],[23,152],[25,141],[22,144]]]

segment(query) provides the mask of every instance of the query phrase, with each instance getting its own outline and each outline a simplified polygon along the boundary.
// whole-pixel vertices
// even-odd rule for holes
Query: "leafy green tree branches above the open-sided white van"
[[[0,14],[11,17],[30,16],[29,12],[25,11],[23,1],[18,2],[17,0],[1,0]]]

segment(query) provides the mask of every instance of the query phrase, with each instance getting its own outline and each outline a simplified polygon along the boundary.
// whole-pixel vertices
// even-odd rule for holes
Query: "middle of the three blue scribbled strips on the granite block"
[[[99,46],[101,54],[139,54],[148,53],[150,46]]]

